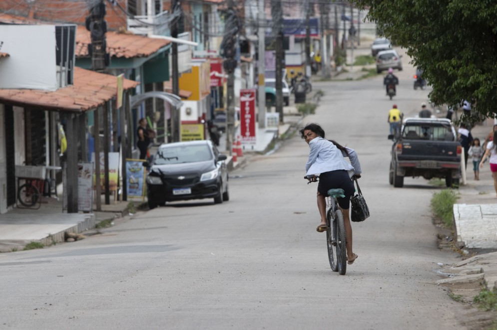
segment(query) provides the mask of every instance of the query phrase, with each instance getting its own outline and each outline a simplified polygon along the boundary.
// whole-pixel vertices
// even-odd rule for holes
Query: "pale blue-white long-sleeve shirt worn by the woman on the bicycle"
[[[306,163],[306,174],[315,175],[332,170],[345,169],[349,172],[349,176],[361,174],[361,164],[354,149],[345,147],[349,153],[350,163],[345,160],[347,157],[345,152],[342,152],[332,142],[317,137],[309,142],[311,151]]]

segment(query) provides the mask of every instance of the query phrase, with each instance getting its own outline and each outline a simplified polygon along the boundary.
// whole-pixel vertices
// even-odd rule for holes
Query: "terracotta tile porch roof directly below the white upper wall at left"
[[[124,79],[124,90],[138,82]],[[115,76],[74,68],[74,85],[56,91],[0,89],[0,102],[40,110],[84,112],[103,105],[116,95]]]

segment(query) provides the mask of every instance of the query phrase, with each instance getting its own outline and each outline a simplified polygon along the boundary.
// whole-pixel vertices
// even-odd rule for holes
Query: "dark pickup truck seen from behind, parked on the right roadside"
[[[404,176],[423,176],[445,178],[448,187],[459,186],[462,151],[450,120],[407,118],[392,146],[390,184],[402,187]]]

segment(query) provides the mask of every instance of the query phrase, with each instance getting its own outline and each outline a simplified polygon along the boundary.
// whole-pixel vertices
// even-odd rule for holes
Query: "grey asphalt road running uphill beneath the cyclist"
[[[416,114],[409,65],[395,103]],[[354,148],[371,217],[353,224],[359,258],[330,270],[317,186],[302,178],[307,144],[294,136],[231,173],[231,200],[176,202],[102,235],[0,254],[0,329],[464,329],[464,308],[436,286],[441,252],[434,188],[388,183],[393,102],[381,77],[315,82],[326,137]]]

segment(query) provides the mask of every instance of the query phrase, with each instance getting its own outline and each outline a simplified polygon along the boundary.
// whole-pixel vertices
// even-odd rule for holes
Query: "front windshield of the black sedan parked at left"
[[[154,157],[154,165],[195,163],[212,160],[207,145],[175,146],[161,148]]]

